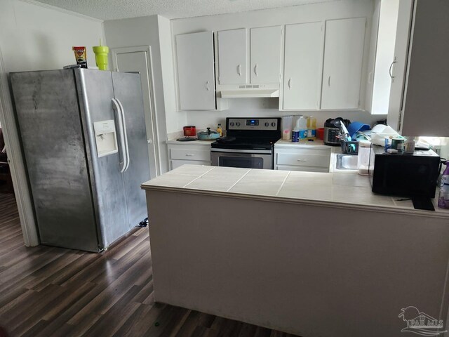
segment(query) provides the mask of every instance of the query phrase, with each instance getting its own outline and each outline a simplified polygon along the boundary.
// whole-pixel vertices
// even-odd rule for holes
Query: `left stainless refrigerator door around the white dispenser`
[[[76,88],[79,93],[83,133],[86,138],[86,155],[91,178],[95,213],[98,217],[100,246],[109,244],[126,234],[128,215],[123,188],[123,174],[120,173],[123,148],[119,152],[98,157],[93,124],[97,121],[114,120],[119,138],[119,120],[113,110],[111,72],[101,70],[74,70]]]

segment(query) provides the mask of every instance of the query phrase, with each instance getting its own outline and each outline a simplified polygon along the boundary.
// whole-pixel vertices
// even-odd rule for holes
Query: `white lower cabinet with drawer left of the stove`
[[[170,170],[184,164],[210,166],[210,143],[168,144],[168,160],[170,161]]]

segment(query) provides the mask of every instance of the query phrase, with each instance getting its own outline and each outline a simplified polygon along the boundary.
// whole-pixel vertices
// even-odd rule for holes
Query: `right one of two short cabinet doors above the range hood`
[[[250,30],[251,84],[279,83],[281,77],[281,26]]]

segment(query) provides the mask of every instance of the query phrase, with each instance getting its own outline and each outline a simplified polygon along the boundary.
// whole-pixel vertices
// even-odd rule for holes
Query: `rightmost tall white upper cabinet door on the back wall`
[[[326,21],[321,109],[357,109],[366,18]]]

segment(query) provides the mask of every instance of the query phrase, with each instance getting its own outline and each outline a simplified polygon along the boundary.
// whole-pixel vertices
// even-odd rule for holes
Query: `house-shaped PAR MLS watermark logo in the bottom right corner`
[[[401,332],[413,332],[422,336],[439,336],[447,331],[441,330],[444,326],[442,319],[435,319],[424,312],[420,312],[416,307],[402,308],[398,317],[407,323],[407,326]]]

